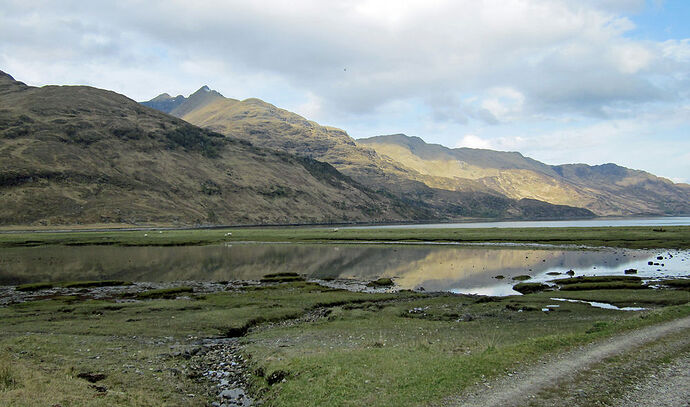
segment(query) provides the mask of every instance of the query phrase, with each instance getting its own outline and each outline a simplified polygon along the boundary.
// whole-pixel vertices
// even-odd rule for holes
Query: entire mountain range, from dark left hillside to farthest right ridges
[[[206,86],[142,104],[0,72],[0,225],[690,213],[690,186],[613,164],[548,166],[404,135],[353,140]]]

